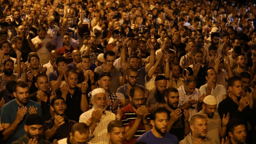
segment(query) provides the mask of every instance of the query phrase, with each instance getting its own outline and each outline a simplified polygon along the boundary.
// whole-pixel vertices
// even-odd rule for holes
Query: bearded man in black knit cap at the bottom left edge
[[[52,144],[42,138],[44,134],[43,122],[42,117],[38,114],[30,114],[26,118],[26,124],[24,126],[27,134],[14,141],[12,144]]]

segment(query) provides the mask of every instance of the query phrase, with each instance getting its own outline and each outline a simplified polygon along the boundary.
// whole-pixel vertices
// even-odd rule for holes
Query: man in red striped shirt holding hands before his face
[[[125,126],[124,144],[134,144],[139,136],[151,130],[149,125],[150,108],[145,106],[144,89],[134,86],[129,90],[130,104],[122,108],[122,122]]]

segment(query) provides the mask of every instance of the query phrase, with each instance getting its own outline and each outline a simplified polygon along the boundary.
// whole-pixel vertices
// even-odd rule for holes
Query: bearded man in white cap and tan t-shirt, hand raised
[[[212,95],[206,96],[204,98],[202,107],[203,109],[197,114],[208,117],[207,135],[210,138],[214,138],[216,142],[220,144],[220,138],[224,138],[226,136],[227,124],[230,118],[229,113],[227,114],[227,116],[225,116],[225,114],[223,115],[221,122],[219,114],[215,112],[217,108],[217,100]]]

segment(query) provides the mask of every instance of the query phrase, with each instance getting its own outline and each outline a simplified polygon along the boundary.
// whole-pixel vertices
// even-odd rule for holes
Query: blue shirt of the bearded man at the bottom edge
[[[169,132],[166,132],[164,134],[164,137],[162,138],[157,138],[154,136],[151,130],[148,132],[142,134],[136,142],[144,142],[146,144],[179,144],[179,140],[176,136],[170,134]]]

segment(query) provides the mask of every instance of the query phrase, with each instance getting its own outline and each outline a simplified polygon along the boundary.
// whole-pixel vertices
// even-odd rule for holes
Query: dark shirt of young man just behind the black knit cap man
[[[64,124],[62,124],[54,134],[52,140],[57,139],[60,140],[62,138],[68,137],[69,133],[71,132],[71,127],[76,124],[77,122],[74,120],[69,120],[66,116],[64,116]],[[51,130],[54,126],[54,116],[47,121],[44,121],[44,131]]]

